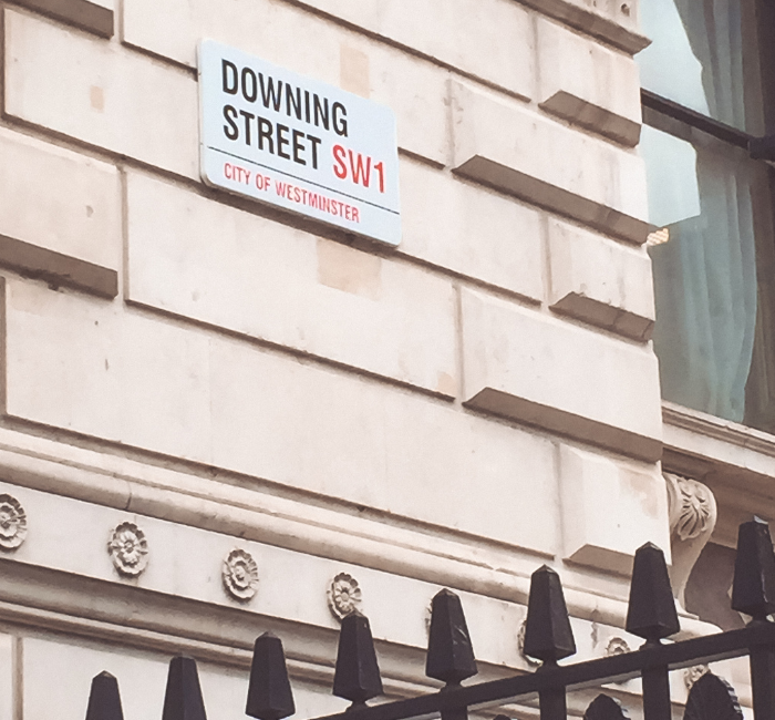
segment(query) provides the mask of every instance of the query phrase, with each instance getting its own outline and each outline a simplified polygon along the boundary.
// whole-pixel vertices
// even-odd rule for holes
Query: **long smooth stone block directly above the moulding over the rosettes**
[[[559,549],[546,439],[14,278],[6,327],[8,415],[535,552]]]

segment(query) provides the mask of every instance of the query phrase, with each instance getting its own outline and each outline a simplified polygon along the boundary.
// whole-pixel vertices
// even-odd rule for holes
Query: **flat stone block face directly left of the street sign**
[[[199,177],[193,78],[11,9],[4,17],[7,114]]]

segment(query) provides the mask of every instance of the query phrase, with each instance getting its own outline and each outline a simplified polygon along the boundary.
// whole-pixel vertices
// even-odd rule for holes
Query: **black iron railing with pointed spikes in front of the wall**
[[[524,652],[541,661],[531,673],[462,685],[476,675],[476,660],[459,598],[442,590],[433,599],[426,675],[445,683],[437,692],[395,702],[366,702],[382,695],[382,680],[369,620],[344,618],[339,636],[333,693],[352,704],[316,720],[409,720],[441,716],[466,720],[471,709],[538,697],[541,720],[565,720],[569,690],[640,677],[645,720],[670,720],[669,672],[699,664],[748,656],[755,720],[775,720],[775,553],[766,523],[740,526],[732,608],[751,616],[744,628],[664,642],[680,630],[664,555],[647,544],[636,553],[626,629],[643,638],[634,651],[560,666],[576,652],[559,576],[544,566],[531,577]],[[282,644],[271,634],[256,640],[246,713],[257,720],[282,720],[296,711]],[[621,706],[599,695],[585,720],[622,720]],[[706,673],[689,695],[684,720],[742,720],[734,690]],[[106,672],[92,682],[86,720],[123,720],[118,686]],[[206,720],[196,662],[173,658],[163,720]],[[498,716],[496,720],[507,720]]]

